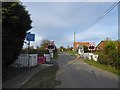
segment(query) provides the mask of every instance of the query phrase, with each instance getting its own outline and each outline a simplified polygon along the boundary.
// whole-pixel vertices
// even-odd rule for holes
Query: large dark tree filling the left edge
[[[20,54],[31,19],[20,2],[2,3],[2,65],[11,65]]]

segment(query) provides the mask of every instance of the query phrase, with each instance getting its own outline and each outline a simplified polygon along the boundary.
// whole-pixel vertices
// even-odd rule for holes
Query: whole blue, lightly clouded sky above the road
[[[88,0],[89,1],[89,0]],[[99,0],[96,0],[99,1]],[[74,31],[77,42],[95,42],[118,39],[118,7],[92,25],[114,2],[23,2],[29,11],[35,34],[32,46],[41,40],[54,40],[57,47],[73,46]],[[27,45],[24,45],[26,47]]]

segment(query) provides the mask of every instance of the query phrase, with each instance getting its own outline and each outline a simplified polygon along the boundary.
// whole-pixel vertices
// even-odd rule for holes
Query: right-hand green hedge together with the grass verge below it
[[[108,41],[102,50],[95,51],[94,54],[99,55],[97,62],[93,60],[84,60],[84,61],[90,65],[120,75],[119,42]]]

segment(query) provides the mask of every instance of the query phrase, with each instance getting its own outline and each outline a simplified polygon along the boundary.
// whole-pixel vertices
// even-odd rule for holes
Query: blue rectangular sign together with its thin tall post
[[[35,41],[35,34],[31,34],[28,32],[26,34],[26,40],[28,41],[28,66],[29,66],[29,48],[30,48],[30,41]]]

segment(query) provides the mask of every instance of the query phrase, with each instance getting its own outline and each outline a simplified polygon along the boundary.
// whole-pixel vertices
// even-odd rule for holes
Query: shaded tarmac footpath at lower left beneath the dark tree
[[[37,72],[52,65],[53,64],[41,64],[32,68],[12,68],[13,70],[8,70],[4,76],[2,81],[2,89],[20,88]]]

